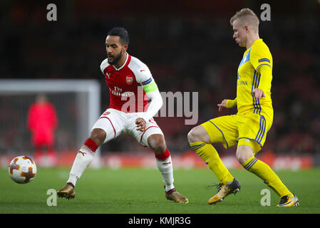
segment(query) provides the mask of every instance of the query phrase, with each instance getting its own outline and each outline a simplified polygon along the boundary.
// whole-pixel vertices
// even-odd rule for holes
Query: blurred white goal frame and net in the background
[[[33,154],[26,127],[29,106],[45,93],[58,118],[56,150],[78,150],[100,116],[100,83],[96,80],[0,80],[0,154]],[[92,167],[100,166],[97,150]]]

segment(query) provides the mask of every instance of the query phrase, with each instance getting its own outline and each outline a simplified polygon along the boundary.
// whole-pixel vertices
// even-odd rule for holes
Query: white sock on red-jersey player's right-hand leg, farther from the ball
[[[158,170],[161,172],[162,180],[165,182],[165,191],[172,190],[175,188],[173,185],[173,168],[171,156],[167,157],[165,160],[158,160],[155,158],[155,162],[157,163]]]

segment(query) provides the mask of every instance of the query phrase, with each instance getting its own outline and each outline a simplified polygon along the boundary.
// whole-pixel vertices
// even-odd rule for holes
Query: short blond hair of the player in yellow
[[[259,19],[251,9],[244,8],[240,11],[237,11],[237,13],[234,14],[234,16],[232,16],[232,18],[230,19],[231,26],[237,19],[241,20],[245,25],[249,24],[254,31],[259,31]]]

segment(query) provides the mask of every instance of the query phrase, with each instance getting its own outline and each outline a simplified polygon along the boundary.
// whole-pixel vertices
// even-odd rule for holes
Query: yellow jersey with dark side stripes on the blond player
[[[251,48],[244,52],[237,71],[237,98],[229,100],[234,104],[232,106],[237,105],[238,113],[257,113],[272,121],[272,64],[272,55],[262,38],[254,41]],[[262,76],[259,68],[264,65],[269,66],[271,71]],[[260,88],[266,96],[257,100],[252,93],[255,88]]]

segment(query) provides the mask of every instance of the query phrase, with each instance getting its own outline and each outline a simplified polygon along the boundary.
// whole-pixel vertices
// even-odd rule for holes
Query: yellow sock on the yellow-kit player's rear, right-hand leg
[[[287,189],[287,187],[282,183],[280,178],[276,173],[267,165],[266,163],[258,160],[255,157],[250,157],[247,161],[241,164],[246,170],[254,173],[260,177],[267,186],[271,187],[274,192],[279,195],[279,197],[284,197],[289,195],[293,197],[294,195]]]

